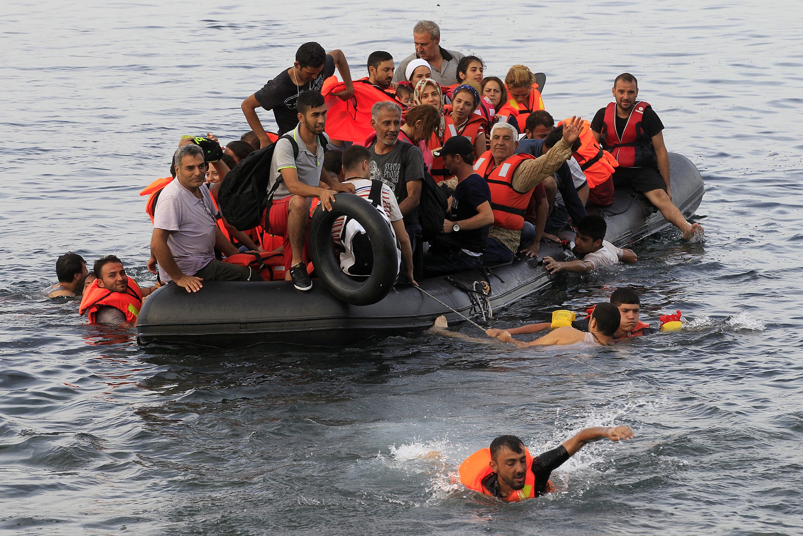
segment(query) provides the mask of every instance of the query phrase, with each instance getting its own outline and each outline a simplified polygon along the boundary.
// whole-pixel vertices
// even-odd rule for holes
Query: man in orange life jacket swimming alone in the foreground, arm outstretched
[[[535,458],[516,436],[499,436],[490,448],[482,448],[468,456],[458,469],[460,483],[484,495],[504,501],[518,502],[554,491],[549,475],[569,460],[585,444],[608,438],[630,440],[629,426],[584,428]]]

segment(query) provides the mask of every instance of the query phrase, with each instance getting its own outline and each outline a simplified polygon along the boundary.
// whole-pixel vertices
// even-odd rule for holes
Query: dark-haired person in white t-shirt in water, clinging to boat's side
[[[550,256],[545,256],[544,268],[552,274],[563,270],[585,273],[603,266],[613,266],[619,262],[636,262],[638,257],[632,249],[617,248],[605,240],[605,231],[607,230],[608,225],[601,216],[585,216],[577,223],[577,236],[574,239],[572,251],[577,260],[559,262]]]

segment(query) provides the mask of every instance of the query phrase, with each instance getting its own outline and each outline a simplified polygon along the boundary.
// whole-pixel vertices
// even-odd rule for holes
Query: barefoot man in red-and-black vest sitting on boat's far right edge
[[[638,97],[638,80],[623,72],[613,80],[613,99],[591,121],[593,136],[619,162],[613,186],[631,186],[650,200],[667,222],[689,240],[703,234],[699,223],[688,223],[672,203],[669,153],[663,142],[663,123],[652,106]]]

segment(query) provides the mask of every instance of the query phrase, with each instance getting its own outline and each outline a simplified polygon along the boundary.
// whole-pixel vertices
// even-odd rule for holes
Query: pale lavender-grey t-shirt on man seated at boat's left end
[[[198,190],[200,199],[174,179],[161,190],[153,215],[153,227],[174,231],[167,245],[178,268],[190,276],[214,259],[214,229],[219,217],[209,188],[201,186]],[[159,276],[165,282],[172,281],[161,265]]]

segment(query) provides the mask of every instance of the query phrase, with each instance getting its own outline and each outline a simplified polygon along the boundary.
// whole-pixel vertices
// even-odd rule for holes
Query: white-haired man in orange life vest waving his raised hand
[[[539,158],[516,154],[519,133],[510,123],[497,123],[491,129],[491,150],[485,151],[474,165],[491,188],[494,212],[494,224],[485,243],[486,264],[511,262],[516,252],[535,239],[535,227],[524,221],[532,190],[571,158],[572,144],[580,136],[581,126],[581,117],[566,121],[563,137]]]

